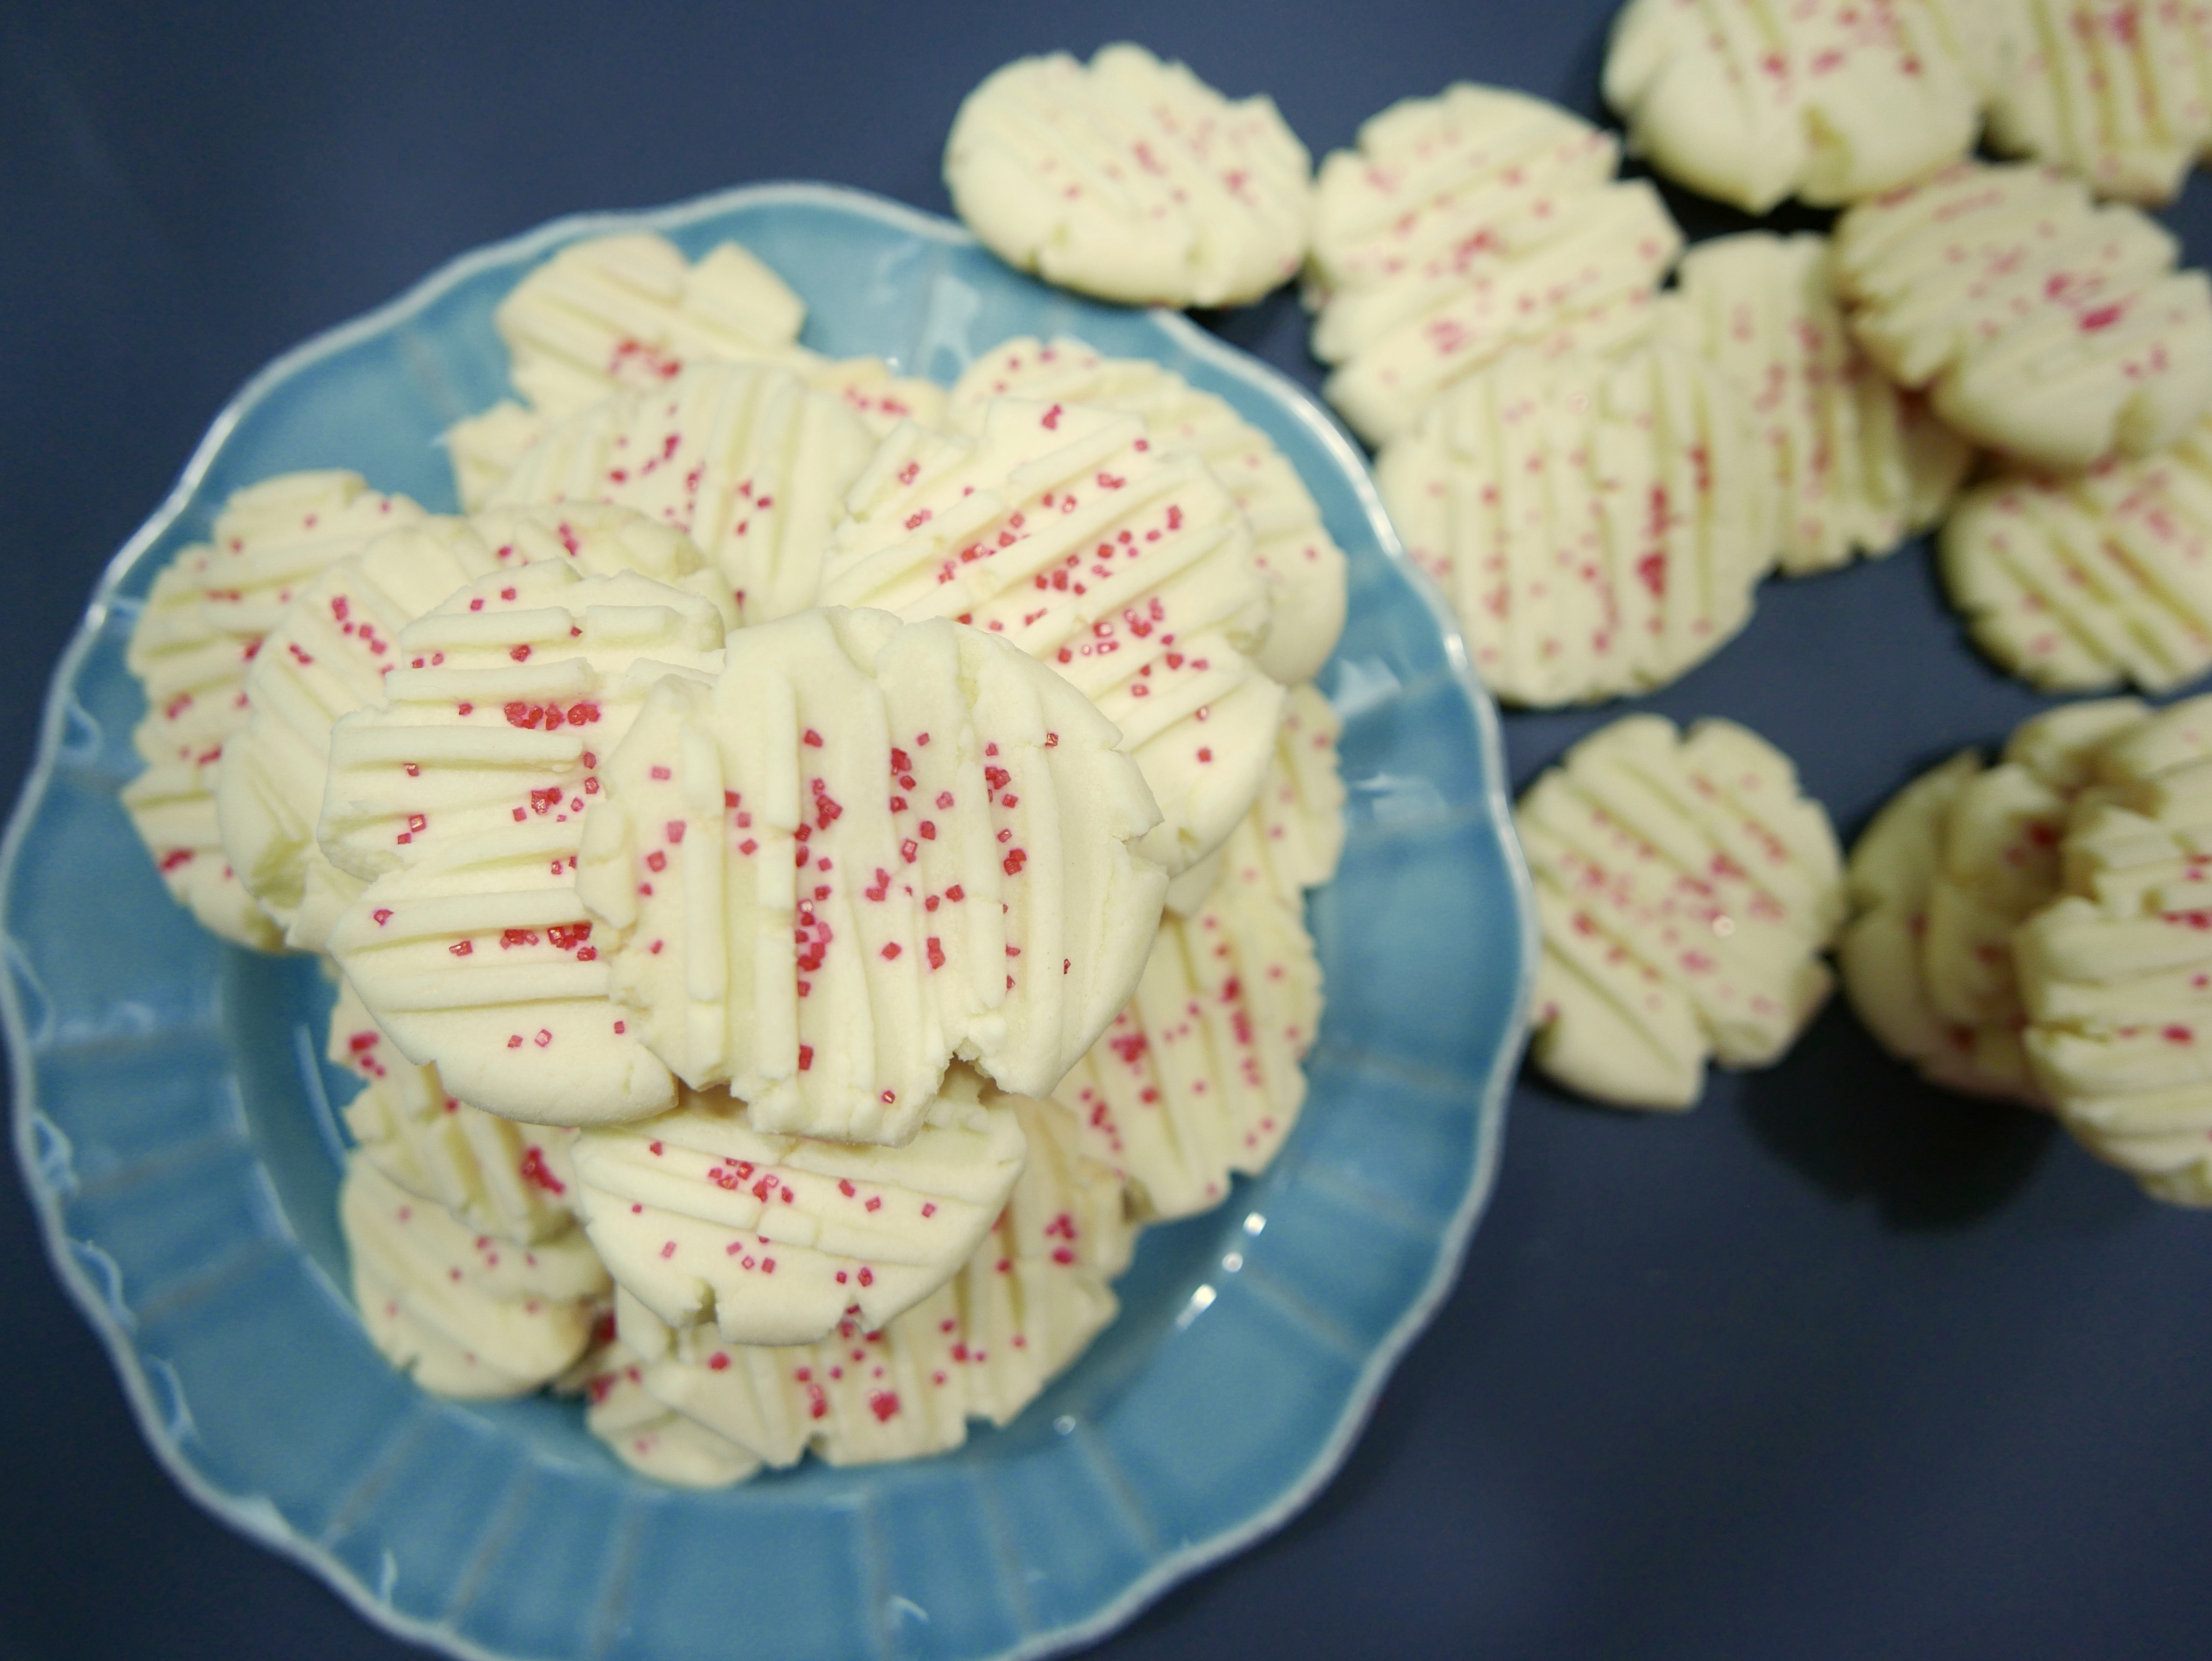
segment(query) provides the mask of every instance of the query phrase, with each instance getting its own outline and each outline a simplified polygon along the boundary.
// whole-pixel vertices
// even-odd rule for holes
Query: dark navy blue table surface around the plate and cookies
[[[1272,93],[1316,157],[1455,77],[1595,115],[1606,11],[0,4],[0,779],[230,391],[451,254],[745,179],[942,212],[960,95],[1115,38]],[[2212,188],[2168,217],[2212,254]],[[1287,294],[1217,327],[1318,385]],[[1644,703],[1752,723],[1854,834],[2042,701],[1971,655],[1913,546],[1770,584]],[[1515,781],[1615,712],[1511,717]],[[1345,1471],[1102,1654],[2205,1654],[2208,1309],[2212,1216],[1920,1086],[1840,1006],[1688,1119],[1524,1084],[1467,1274]],[[13,1177],[0,1318],[0,1659],[411,1652],[157,1471]]]

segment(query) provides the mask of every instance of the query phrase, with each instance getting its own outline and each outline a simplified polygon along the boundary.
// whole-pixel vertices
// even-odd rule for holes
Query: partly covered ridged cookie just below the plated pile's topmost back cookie
[[[845,491],[876,440],[790,369],[708,363],[617,391],[535,442],[493,502],[615,502],[688,535],[748,624],[814,604]]]

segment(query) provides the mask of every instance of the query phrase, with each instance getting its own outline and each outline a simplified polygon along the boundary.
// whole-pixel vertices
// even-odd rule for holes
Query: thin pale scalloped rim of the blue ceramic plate
[[[161,1407],[153,1396],[153,1387],[148,1385],[146,1369],[131,1334],[115,1318],[106,1298],[93,1285],[91,1274],[66,1250],[60,1194],[46,1183],[38,1159],[35,1128],[38,1124],[44,1124],[44,1115],[38,1108],[38,1070],[31,1059],[31,1031],[24,1022],[20,1002],[20,969],[13,962],[13,931],[9,927],[11,918],[7,913],[7,896],[13,891],[15,860],[22,852],[22,843],[53,781],[55,759],[62,743],[62,725],[66,719],[64,692],[75,686],[86,652],[91,652],[100,633],[106,628],[115,588],[124,582],[146,549],[153,546],[190,504],[192,493],[212,467],[215,456],[223,449],[232,429],[254,405],[307,365],[407,321],[409,316],[427,310],[440,294],[458,283],[465,283],[469,276],[489,265],[538,254],[555,243],[593,230],[635,230],[639,226],[670,230],[695,219],[710,219],[737,208],[785,201],[845,208],[947,246],[971,246],[975,241],[964,228],[918,208],[909,208],[900,201],[854,190],[849,186],[814,181],[734,186],[730,190],[717,190],[706,197],[692,197],[661,208],[564,215],[562,219],[551,219],[535,230],[458,254],[392,301],[385,301],[347,323],[325,330],[323,334],[303,341],[268,363],[230,398],[230,403],[223,405],[210,422],[206,436],[199,440],[199,447],[192,451],[192,458],[179,473],[177,484],[164,498],[161,506],[155,509],[155,513],[131,535],[131,540],[124,542],[115,557],[108,560],[100,582],[93,586],[93,599],[84,610],[84,619],[77,624],[75,635],[46,681],[46,703],[40,712],[38,752],[31,772],[24,779],[22,794],[15,798],[15,809],[9,814],[7,834],[0,836],[0,949],[4,949],[11,958],[7,973],[0,973],[0,1028],[4,1028],[9,1046],[9,1082],[13,1090],[11,1139],[15,1166],[38,1212],[46,1258],[53,1263],[55,1276],[62,1281],[71,1300],[106,1347],[108,1360],[115,1365],[117,1378],[122,1380],[131,1413],[137,1418],[139,1435],[153,1449],[155,1460],[164,1471],[168,1471],[177,1486],[219,1522],[312,1570],[376,1628],[409,1643],[429,1646],[460,1657],[462,1661],[515,1661],[515,1657],[502,1657],[493,1650],[484,1650],[447,1626],[416,1621],[400,1615],[389,1603],[380,1601],[378,1595],[330,1550],[294,1533],[270,1500],[259,1495],[241,1497],[217,1488],[210,1480],[201,1477],[173,1444]],[[1037,1657],[1060,1654],[1104,1639],[1177,1581],[1197,1575],[1210,1564],[1243,1550],[1287,1524],[1336,1475],[1345,1455],[1352,1451],[1352,1444],[1367,1427],[1374,1402],[1385,1380],[1398,1365],[1398,1358],[1411,1347],[1422,1329],[1427,1329],[1436,1309],[1444,1303],[1451,1285],[1458,1281],[1460,1265],[1467,1258],[1467,1245],[1473,1239],[1475,1221],[1489,1203],[1491,1188],[1498,1177],[1498,1159],[1504,1148],[1506,1090],[1520,1066],[1522,1044],[1526,1042],[1528,1000],[1540,951],[1535,931],[1535,896],[1528,880],[1528,867],[1522,860],[1520,840],[1513,836],[1513,803],[1506,787],[1504,734],[1498,721],[1498,706],[1473,675],[1467,641],[1460,635],[1460,626],[1451,615],[1451,608],[1444,604],[1429,575],[1407,557],[1405,546],[1398,542],[1398,533],[1391,526],[1389,515],[1383,509],[1383,500],[1376,493],[1374,478],[1367,471],[1365,456],[1345,429],[1314,403],[1305,387],[1294,383],[1290,376],[1214,338],[1181,312],[1155,310],[1155,318],[1170,336],[1192,352],[1192,356],[1201,356],[1239,380],[1259,387],[1272,400],[1287,407],[1294,418],[1312,431],[1312,436],[1336,458],[1345,476],[1352,480],[1354,495],[1376,531],[1383,557],[1411,582],[1413,593],[1420,597],[1422,606],[1427,606],[1429,617],[1442,637],[1451,670],[1460,681],[1460,690],[1467,694],[1467,701],[1475,712],[1475,732],[1480,739],[1484,774],[1482,796],[1491,823],[1500,827],[1498,847],[1504,856],[1506,876],[1513,885],[1515,916],[1520,920],[1520,962],[1511,1022],[1506,1024],[1504,1042],[1491,1059],[1491,1073],[1482,1088],[1482,1117],[1478,1126],[1480,1143],[1475,1150],[1473,1179],[1469,1181],[1464,1199],[1442,1232],[1442,1250],[1438,1254],[1436,1270],[1405,1316],[1398,1318],[1398,1323],[1367,1356],[1367,1362],[1360,1367],[1360,1373],[1345,1398],[1329,1440],[1314,1455],[1301,1477],[1254,1517],[1206,1542],[1194,1542],[1166,1555],[1099,1612],[1084,1621],[1040,1632],[1031,1641],[1004,1650],[1000,1661],[1035,1661]]]

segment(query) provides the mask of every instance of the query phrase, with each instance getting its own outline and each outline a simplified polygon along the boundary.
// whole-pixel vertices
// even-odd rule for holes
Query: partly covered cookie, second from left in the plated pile
[[[633,513],[575,504],[425,520],[338,560],[285,606],[246,677],[246,730],[215,781],[217,825],[239,880],[285,924],[285,940],[321,951],[358,880],[330,869],[314,843],[330,767],[330,732],[383,697],[407,659],[398,635],[467,582],[551,562],[582,575],[637,571],[679,584],[737,619],[677,531]],[[420,666],[418,666],[420,668]],[[314,871],[314,867],[323,867]],[[310,871],[321,905],[307,907]]]

